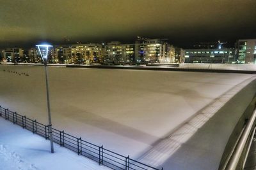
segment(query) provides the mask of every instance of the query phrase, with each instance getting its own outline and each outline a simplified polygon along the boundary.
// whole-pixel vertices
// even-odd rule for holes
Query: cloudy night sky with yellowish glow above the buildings
[[[256,0],[0,0],[0,47],[134,42],[175,46],[256,38]]]

